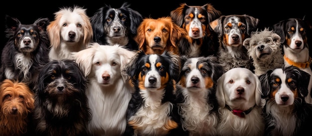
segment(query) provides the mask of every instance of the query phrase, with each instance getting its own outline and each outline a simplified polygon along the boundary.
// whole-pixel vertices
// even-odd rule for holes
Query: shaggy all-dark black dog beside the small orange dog
[[[51,61],[39,73],[34,125],[38,136],[88,136],[87,78],[71,60]]]

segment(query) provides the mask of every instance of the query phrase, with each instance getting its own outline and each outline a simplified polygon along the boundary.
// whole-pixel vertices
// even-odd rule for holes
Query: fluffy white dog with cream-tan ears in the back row
[[[55,12],[54,20],[47,26],[50,38],[50,60],[73,59],[71,52],[85,49],[92,41],[93,30],[86,9],[63,7]]]

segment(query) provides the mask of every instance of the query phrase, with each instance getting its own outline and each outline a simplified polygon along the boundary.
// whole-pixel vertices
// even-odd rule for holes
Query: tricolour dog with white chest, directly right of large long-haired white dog
[[[127,109],[126,135],[165,136],[178,128],[174,111],[174,88],[179,58],[172,52],[137,55],[123,72],[130,75],[135,92]]]

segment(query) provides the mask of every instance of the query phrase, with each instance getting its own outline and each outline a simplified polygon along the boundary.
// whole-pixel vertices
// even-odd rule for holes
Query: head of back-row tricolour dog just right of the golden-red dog
[[[170,15],[179,27],[187,31],[190,38],[198,39],[209,36],[211,31],[209,23],[220,17],[221,11],[216,10],[210,3],[202,6],[181,3],[170,12]]]

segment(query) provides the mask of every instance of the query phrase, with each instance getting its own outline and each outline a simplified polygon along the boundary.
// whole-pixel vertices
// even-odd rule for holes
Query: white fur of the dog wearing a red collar
[[[234,83],[230,83],[233,80]],[[246,83],[249,80],[250,84]],[[237,87],[243,87],[244,93],[236,94]],[[264,119],[261,102],[261,83],[257,75],[247,68],[232,68],[225,72],[217,82],[216,97],[219,103],[220,122],[217,127],[220,136],[263,136]],[[242,111],[256,105],[249,114],[241,118],[234,115],[231,109]]]

